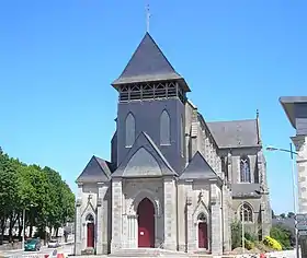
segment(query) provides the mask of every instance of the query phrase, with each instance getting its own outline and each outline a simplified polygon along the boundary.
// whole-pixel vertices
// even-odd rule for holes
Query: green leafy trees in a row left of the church
[[[50,167],[26,165],[0,151],[0,235],[19,224],[21,236],[23,211],[25,225],[44,232],[57,231],[73,219],[75,196],[58,172]],[[43,236],[44,237],[44,236]],[[0,239],[1,241],[1,239]]]

